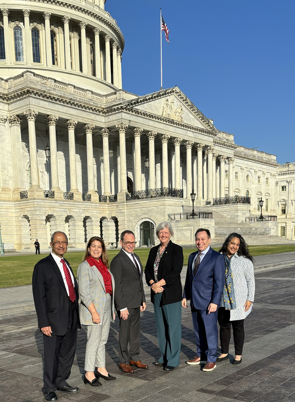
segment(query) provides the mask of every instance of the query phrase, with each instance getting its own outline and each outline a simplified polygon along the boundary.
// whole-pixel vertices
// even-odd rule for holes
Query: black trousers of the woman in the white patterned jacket
[[[244,320],[229,321],[230,311],[224,307],[219,307],[217,320],[220,326],[220,347],[221,353],[228,353],[230,341],[230,326],[233,328],[235,353],[240,356],[243,353],[245,339]]]

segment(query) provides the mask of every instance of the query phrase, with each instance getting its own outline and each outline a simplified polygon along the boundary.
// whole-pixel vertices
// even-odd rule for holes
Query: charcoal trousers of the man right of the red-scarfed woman
[[[139,360],[140,350],[140,306],[137,308],[129,308],[128,312],[129,316],[127,320],[122,320],[122,318],[120,318],[120,311],[117,311],[120,324],[119,359],[120,363],[123,364],[129,364],[129,353],[131,360]]]

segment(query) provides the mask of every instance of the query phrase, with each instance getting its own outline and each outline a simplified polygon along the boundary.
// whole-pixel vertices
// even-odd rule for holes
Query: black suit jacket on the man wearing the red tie
[[[64,260],[73,274],[69,262],[66,258]],[[81,328],[78,308],[78,283],[74,274],[73,277],[76,294],[74,304],[78,316],[78,328]],[[35,265],[32,285],[39,328],[51,326],[53,335],[64,335],[68,328],[69,297],[59,267],[51,254]]]

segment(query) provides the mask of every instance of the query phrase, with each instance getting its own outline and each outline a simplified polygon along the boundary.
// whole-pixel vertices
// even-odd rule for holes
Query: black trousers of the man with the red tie
[[[44,371],[42,392],[55,391],[67,385],[77,345],[78,316],[74,303],[69,300],[69,320],[66,334],[43,334]]]

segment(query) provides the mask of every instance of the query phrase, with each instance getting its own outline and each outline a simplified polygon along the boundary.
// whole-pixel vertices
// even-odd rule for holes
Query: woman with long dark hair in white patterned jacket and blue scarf
[[[236,354],[232,363],[240,364],[245,338],[244,319],[253,308],[255,293],[253,258],[244,238],[238,233],[227,236],[219,252],[224,256],[225,286],[217,316],[221,345],[221,355],[217,362],[229,358],[232,326]]]

